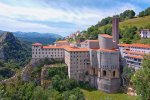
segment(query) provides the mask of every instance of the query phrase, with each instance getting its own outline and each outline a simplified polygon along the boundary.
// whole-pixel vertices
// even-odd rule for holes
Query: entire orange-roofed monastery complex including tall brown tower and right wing
[[[113,36],[99,34],[98,40],[86,40],[80,45],[57,41],[55,45],[32,45],[32,59],[64,60],[69,78],[86,81],[99,90],[114,93],[120,88],[120,65],[135,69],[141,67],[144,54],[150,45],[118,44],[119,20],[113,18]]]

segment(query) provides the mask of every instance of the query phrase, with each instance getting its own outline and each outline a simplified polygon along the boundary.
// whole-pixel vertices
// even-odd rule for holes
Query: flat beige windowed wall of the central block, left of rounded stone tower
[[[87,71],[87,59],[89,52],[69,52],[65,51],[65,63],[68,66],[69,78],[82,80]]]

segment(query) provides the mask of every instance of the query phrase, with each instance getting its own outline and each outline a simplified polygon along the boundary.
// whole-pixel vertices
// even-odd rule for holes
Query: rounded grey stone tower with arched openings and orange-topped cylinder
[[[120,88],[119,51],[114,49],[113,37],[99,35],[100,49],[97,51],[98,58],[98,89],[108,92],[118,92]]]

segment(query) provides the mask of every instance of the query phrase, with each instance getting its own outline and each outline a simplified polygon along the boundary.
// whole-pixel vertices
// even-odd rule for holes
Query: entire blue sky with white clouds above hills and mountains
[[[0,0],[0,30],[56,33],[86,30],[102,18],[150,6],[150,0]]]

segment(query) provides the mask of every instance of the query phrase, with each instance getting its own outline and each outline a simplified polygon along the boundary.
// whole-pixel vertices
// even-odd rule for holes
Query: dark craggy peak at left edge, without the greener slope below
[[[0,59],[14,61],[23,66],[31,56],[31,48],[18,40],[11,32],[3,32],[0,36]]]

